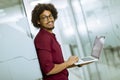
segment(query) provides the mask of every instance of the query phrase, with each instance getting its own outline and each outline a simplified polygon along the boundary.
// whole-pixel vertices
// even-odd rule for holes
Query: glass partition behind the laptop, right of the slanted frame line
[[[76,31],[79,31],[78,36],[82,42],[83,55],[90,55],[95,36],[106,36],[100,61],[86,66],[84,75],[86,80],[120,79],[119,5],[119,0],[70,0]]]

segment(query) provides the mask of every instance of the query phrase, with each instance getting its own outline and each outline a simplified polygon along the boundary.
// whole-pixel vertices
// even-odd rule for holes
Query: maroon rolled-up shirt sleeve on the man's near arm
[[[38,38],[35,41],[35,46],[41,70],[44,74],[47,74],[54,67],[51,52],[51,39],[47,35],[42,35],[42,38]]]

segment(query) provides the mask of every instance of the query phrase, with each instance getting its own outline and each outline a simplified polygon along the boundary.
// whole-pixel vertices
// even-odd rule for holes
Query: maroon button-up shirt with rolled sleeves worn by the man
[[[54,64],[64,62],[61,47],[57,42],[55,35],[41,29],[35,37],[34,43],[43,74],[43,80],[68,80],[67,69],[54,75],[46,75],[52,70]]]

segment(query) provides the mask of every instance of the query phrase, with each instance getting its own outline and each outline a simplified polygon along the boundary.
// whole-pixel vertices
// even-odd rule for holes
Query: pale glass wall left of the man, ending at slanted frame
[[[22,0],[0,0],[0,80],[41,80]]]

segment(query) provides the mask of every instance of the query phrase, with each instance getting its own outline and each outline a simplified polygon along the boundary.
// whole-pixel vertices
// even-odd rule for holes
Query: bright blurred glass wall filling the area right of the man
[[[100,60],[72,71],[79,79],[120,79],[119,8],[119,0],[68,0],[67,6],[59,9],[59,34],[71,55],[90,55],[95,37],[106,36]]]

